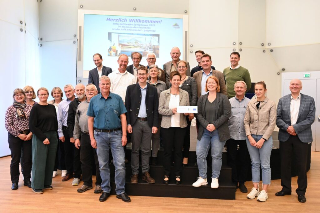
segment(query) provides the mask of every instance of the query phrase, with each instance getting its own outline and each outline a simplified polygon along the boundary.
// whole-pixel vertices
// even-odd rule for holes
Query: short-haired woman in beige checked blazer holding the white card
[[[181,75],[174,71],[170,73],[170,83],[172,87],[160,93],[159,114],[162,115],[161,131],[164,145],[164,184],[169,184],[169,174],[171,168],[172,148],[174,152],[175,183],[181,183],[182,171],[182,147],[186,133],[189,113],[177,113],[177,107],[189,106],[188,92],[182,90],[180,86]]]

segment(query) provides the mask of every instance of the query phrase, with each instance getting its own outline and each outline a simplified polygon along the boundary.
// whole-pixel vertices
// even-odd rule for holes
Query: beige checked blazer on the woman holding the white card
[[[159,114],[162,115],[161,128],[168,129],[171,126],[171,116],[173,115],[172,110],[169,109],[171,88],[164,90],[160,93],[159,99]],[[183,89],[179,88],[179,105],[189,106],[189,94]],[[184,128],[187,126],[186,116],[180,113],[180,127]]]

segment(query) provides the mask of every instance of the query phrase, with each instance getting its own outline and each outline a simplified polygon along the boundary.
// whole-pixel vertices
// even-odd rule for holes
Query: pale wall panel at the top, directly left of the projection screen
[[[39,2],[39,37],[41,42],[74,39],[78,23],[77,0]]]

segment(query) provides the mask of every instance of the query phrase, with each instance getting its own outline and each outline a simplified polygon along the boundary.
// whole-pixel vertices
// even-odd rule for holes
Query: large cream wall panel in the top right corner
[[[320,43],[320,1],[268,0],[267,42],[271,46]]]

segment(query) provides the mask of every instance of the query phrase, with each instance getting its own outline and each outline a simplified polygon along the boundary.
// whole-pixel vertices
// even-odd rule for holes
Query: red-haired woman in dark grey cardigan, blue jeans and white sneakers
[[[200,123],[196,146],[199,178],[192,186],[198,187],[208,184],[206,157],[211,146],[211,188],[218,188],[222,149],[226,141],[230,139],[228,118],[231,113],[231,105],[228,97],[219,93],[219,80],[215,76],[210,76],[207,79],[205,91],[209,91],[209,93],[200,96],[198,100],[198,114],[196,115]]]

